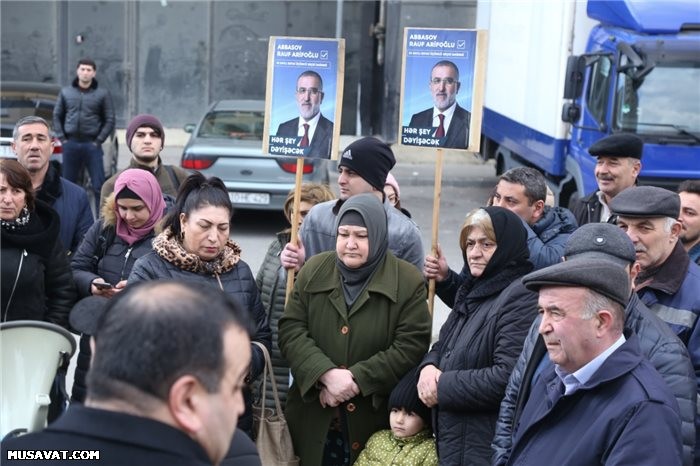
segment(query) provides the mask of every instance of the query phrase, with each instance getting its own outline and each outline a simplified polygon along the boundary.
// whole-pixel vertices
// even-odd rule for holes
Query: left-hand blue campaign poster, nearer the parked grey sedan
[[[336,159],[344,39],[270,37],[263,153]]]

